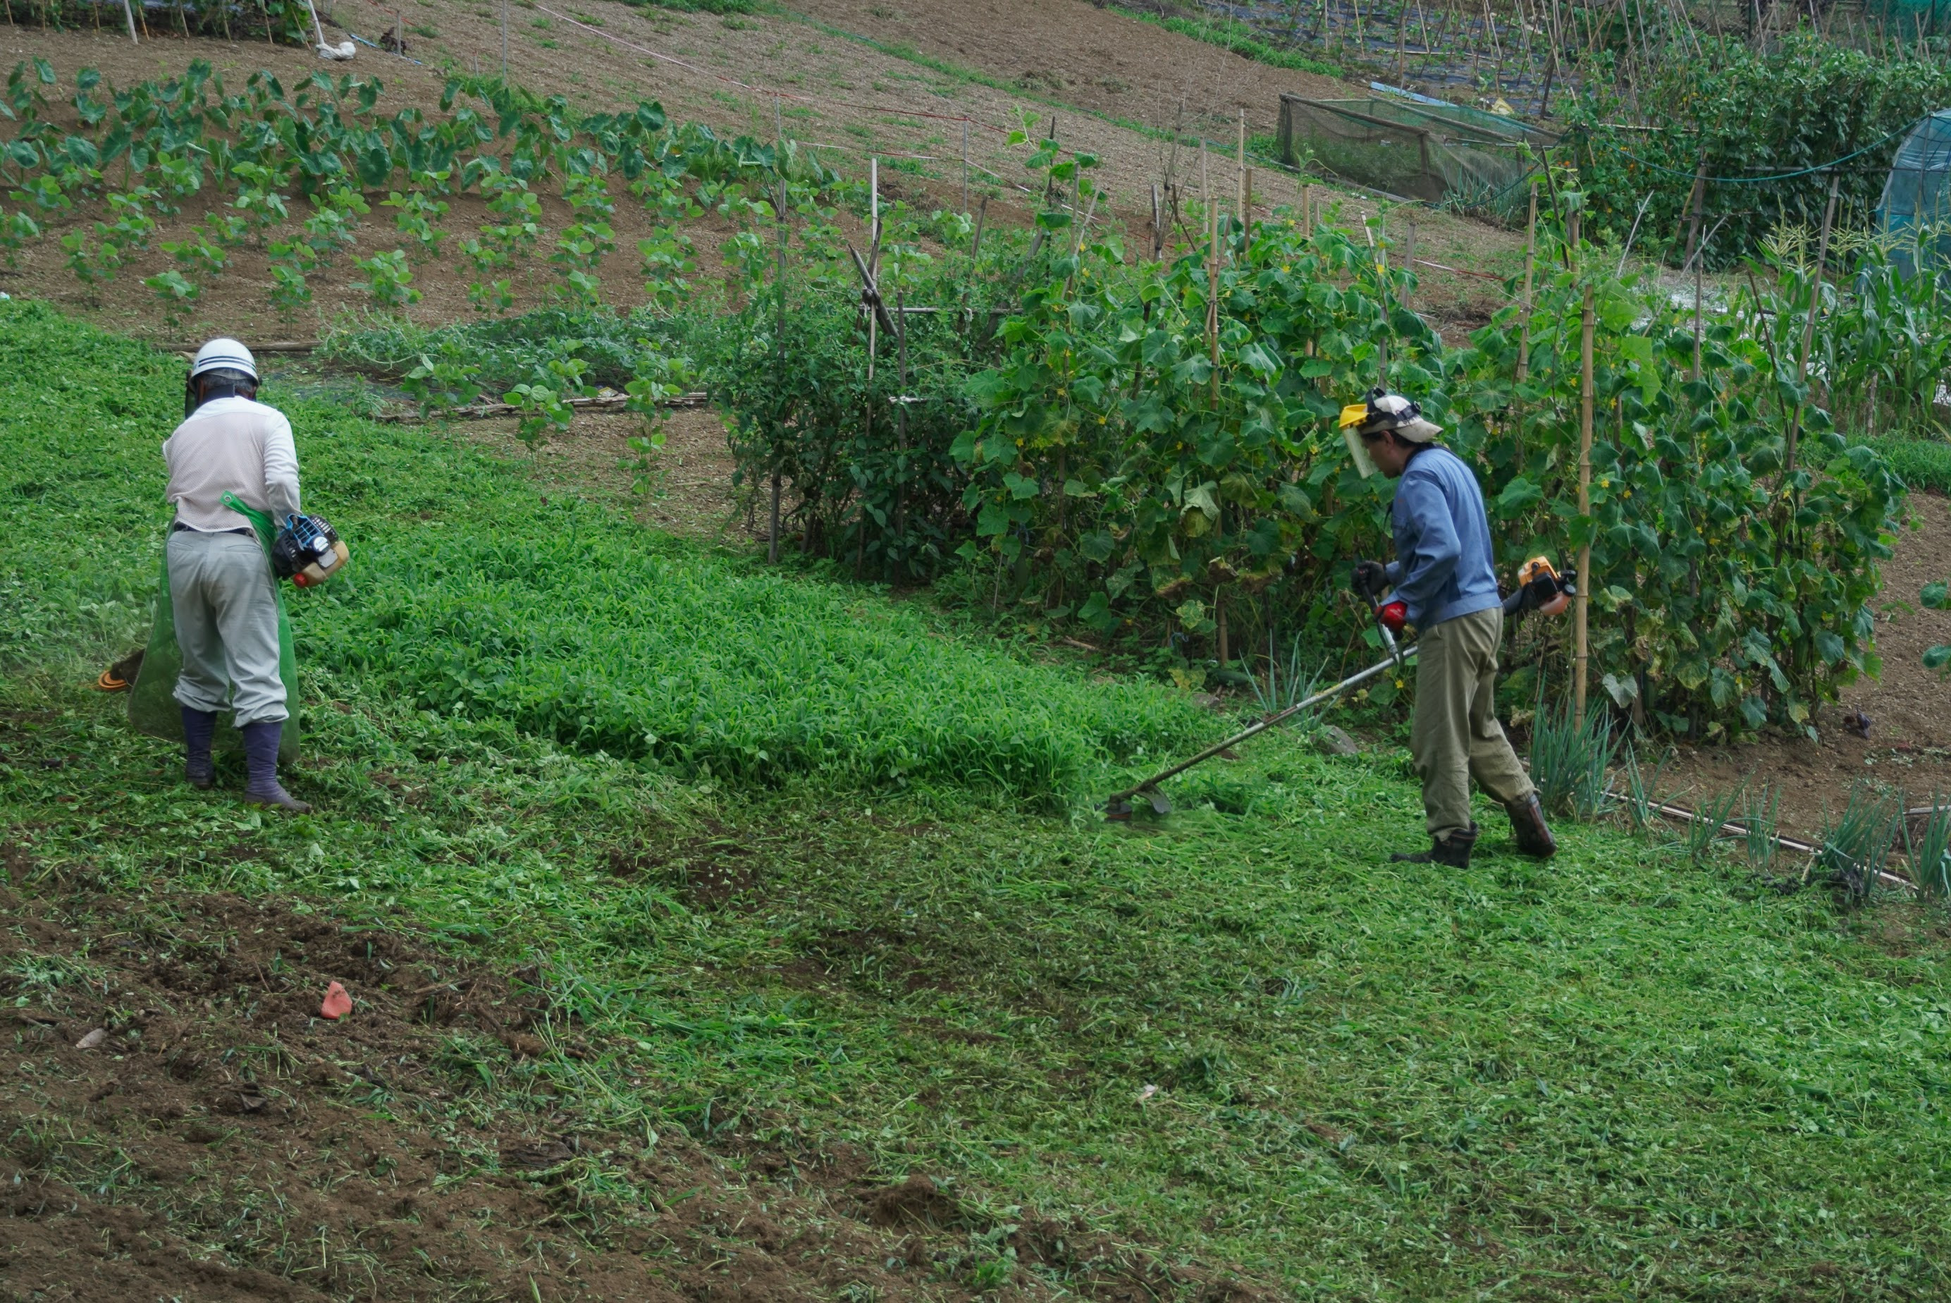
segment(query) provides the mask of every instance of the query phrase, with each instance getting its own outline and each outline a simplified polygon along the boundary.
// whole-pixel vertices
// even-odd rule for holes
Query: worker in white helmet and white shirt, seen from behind
[[[299,451],[291,421],[258,402],[258,363],[236,339],[211,339],[189,367],[183,423],[162,445],[170,468],[170,603],[183,655],[176,702],[183,710],[183,776],[217,780],[217,712],[232,710],[250,780],[244,800],[293,813],[310,809],[277,780],[285,720],[279,677],[277,591],[252,515],[299,511]]]

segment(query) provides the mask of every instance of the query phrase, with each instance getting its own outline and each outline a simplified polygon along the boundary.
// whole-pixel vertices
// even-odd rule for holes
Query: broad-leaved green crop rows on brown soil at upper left
[[[671,127],[652,101],[579,115],[562,96],[453,76],[437,113],[388,115],[380,94],[377,80],[324,72],[293,94],[269,72],[230,92],[203,60],[129,90],[84,68],[66,90],[47,60],[21,62],[8,78],[14,131],[0,176],[14,207],[0,213],[0,248],[12,256],[59,226],[66,265],[88,285],[133,267],[160,222],[195,209],[201,220],[162,242],[170,265],[144,277],[164,308],[187,310],[254,246],[271,261],[271,304],[295,314],[312,300],[308,277],[361,242],[380,246],[353,263],[361,289],[377,308],[404,310],[419,300],[414,265],[455,238],[470,302],[499,314],[515,304],[517,269],[540,259],[558,300],[601,300],[618,191],[654,215],[638,256],[652,298],[667,298],[691,267],[677,222],[755,209],[755,178],[784,178],[802,195],[839,181],[792,142]],[[482,201],[482,222],[451,236],[449,213],[466,193]],[[568,209],[558,230],[542,226],[544,195]],[[361,230],[375,205],[394,213],[378,240]]]

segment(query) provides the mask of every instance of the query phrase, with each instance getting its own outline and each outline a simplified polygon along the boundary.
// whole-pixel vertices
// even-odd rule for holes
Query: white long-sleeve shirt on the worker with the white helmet
[[[300,509],[291,421],[252,398],[215,398],[197,408],[162,441],[162,460],[170,468],[168,499],[189,529],[248,529],[250,521],[224,505],[224,494],[277,521]]]

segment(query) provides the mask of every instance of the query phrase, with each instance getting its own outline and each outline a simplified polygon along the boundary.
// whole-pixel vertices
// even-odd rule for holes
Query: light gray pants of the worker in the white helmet
[[[170,603],[183,671],[176,700],[236,710],[236,726],[285,720],[277,677],[277,591],[256,534],[170,531]]]

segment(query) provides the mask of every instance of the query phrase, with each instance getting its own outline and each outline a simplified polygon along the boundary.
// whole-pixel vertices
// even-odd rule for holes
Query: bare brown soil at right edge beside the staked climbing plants
[[[1853,683],[1840,706],[1818,712],[1820,741],[1682,747],[1662,784],[1674,800],[1692,808],[1742,782],[1750,790],[1768,784],[1781,796],[1783,831],[1816,837],[1857,782],[1900,790],[1910,806],[1951,794],[1951,683],[1922,661],[1926,648],[1951,642],[1951,612],[1918,607],[1920,587],[1951,579],[1951,503],[1920,494],[1912,511],[1918,529],[1898,536],[1877,601],[1883,677]],[[1846,714],[1869,716],[1869,735],[1851,733]]]

